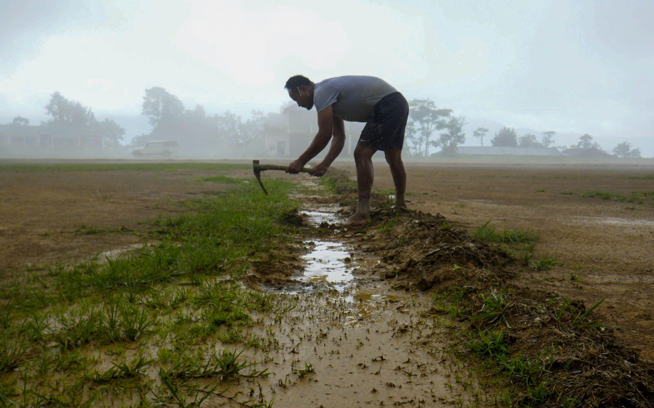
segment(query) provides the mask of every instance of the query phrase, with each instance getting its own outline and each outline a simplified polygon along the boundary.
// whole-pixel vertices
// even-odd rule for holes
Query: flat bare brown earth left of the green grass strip
[[[208,172],[0,172],[0,271],[74,262],[141,243],[141,222],[218,191]],[[99,231],[102,229],[103,231]],[[121,230],[122,229],[122,230]],[[115,231],[105,233],[104,230]]]

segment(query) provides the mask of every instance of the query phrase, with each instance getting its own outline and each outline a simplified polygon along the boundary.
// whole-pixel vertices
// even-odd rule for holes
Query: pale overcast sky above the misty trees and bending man
[[[0,0],[0,122],[38,123],[54,91],[138,115],[150,86],[247,115],[278,110],[293,74],[368,74],[455,114],[654,155],[654,1],[434,3]]]

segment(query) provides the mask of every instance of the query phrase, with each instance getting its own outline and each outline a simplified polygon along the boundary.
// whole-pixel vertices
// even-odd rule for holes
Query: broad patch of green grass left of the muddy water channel
[[[279,243],[297,236],[283,222],[297,206],[288,200],[292,183],[264,182],[268,196],[258,184],[239,183],[224,195],[188,203],[192,212],[150,221],[159,227],[156,239],[116,259],[54,265],[7,280],[0,287],[0,398],[78,406],[92,403],[102,388],[108,398],[119,399],[145,398],[152,390],[171,403],[172,390],[183,390],[178,396],[184,400],[187,381],[198,373],[224,379],[267,375],[241,358],[243,351],[224,350],[209,360],[204,352],[207,344],[243,339],[252,341],[246,348],[269,350],[273,339],[247,336],[243,329],[261,324],[260,313],[272,320],[292,309],[239,282],[250,262],[271,260]],[[132,349],[145,353],[128,358]],[[165,375],[172,367],[179,375]],[[162,386],[153,390],[156,371],[163,373]],[[19,375],[26,378],[24,389],[5,387],[20,381]],[[75,385],[85,383],[83,389]]]

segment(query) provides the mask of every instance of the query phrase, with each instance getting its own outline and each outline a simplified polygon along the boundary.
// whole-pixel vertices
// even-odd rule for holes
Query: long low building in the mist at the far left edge
[[[0,125],[0,146],[10,149],[91,149],[105,148],[101,136],[85,136],[67,129],[50,129],[44,126]]]

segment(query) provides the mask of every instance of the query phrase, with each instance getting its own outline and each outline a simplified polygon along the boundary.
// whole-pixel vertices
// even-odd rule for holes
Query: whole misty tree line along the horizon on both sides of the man
[[[438,108],[430,99],[413,99],[409,102],[409,118],[405,131],[405,151],[413,157],[428,157],[430,148],[441,148],[441,153],[448,155],[456,153],[456,146],[466,142],[463,131],[466,118],[455,116],[453,110]],[[59,92],[50,95],[50,101],[45,106],[50,120],[41,126],[59,134],[73,136],[100,136],[105,146],[120,146],[124,140],[125,129],[112,119],[98,121],[91,108],[80,102],[71,101]],[[253,110],[249,119],[243,120],[230,111],[224,114],[209,115],[203,106],[187,109],[178,97],[166,91],[163,87],[145,89],[141,114],[148,117],[152,130],[133,138],[132,145],[143,145],[148,140],[183,140],[184,146],[190,151],[205,151],[207,146],[221,144],[223,155],[241,155],[246,150],[258,148],[264,137],[266,119],[274,113],[264,115]],[[12,125],[29,125],[29,120],[18,116]],[[484,146],[484,138],[489,129],[477,127],[472,136],[479,139]],[[555,131],[543,132],[540,140],[535,134],[526,133],[518,136],[515,129],[502,127],[490,140],[491,146],[519,148],[551,148],[555,143]],[[557,146],[566,149],[566,146]],[[594,148],[604,151],[593,142],[593,136],[583,134],[577,144],[570,148]],[[641,157],[640,149],[632,149],[628,142],[618,144],[613,148],[617,157]]]

